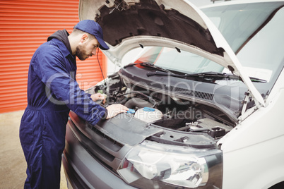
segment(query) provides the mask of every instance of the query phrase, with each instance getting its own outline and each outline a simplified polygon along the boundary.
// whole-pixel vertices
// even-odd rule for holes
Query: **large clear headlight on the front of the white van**
[[[117,172],[137,188],[221,188],[222,169],[220,150],[145,141],[126,154]],[[219,181],[209,177],[211,171]]]

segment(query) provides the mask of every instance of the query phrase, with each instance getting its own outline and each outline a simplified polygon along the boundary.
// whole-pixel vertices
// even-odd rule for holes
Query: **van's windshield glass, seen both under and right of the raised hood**
[[[283,2],[236,4],[203,8],[250,77],[267,80],[255,84],[259,90],[273,87],[284,65]],[[182,73],[227,72],[223,66],[187,51],[151,47],[138,61]]]

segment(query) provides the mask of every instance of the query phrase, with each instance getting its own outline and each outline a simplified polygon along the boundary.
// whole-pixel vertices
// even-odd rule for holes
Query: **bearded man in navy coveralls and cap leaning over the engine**
[[[87,94],[76,82],[76,56],[80,60],[109,49],[102,28],[82,20],[71,35],[58,30],[33,54],[28,71],[28,106],[20,122],[20,143],[27,161],[25,188],[60,188],[61,154],[65,146],[69,111],[95,125],[128,109],[122,104],[95,103],[103,94]]]

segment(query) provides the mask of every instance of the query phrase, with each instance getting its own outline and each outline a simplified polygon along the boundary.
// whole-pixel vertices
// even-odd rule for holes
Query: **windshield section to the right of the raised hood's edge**
[[[276,80],[283,68],[283,2],[236,4],[202,11],[225,37],[248,75]]]

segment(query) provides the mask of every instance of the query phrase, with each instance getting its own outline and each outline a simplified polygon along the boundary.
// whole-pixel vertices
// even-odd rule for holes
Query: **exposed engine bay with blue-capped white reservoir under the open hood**
[[[156,126],[167,130],[166,133],[199,133],[208,135],[213,140],[219,140],[228,133],[234,124],[224,118],[222,111],[214,109],[187,99],[173,98],[158,90],[146,90],[146,88],[135,86],[123,79],[123,75],[114,73],[107,80],[91,87],[86,92],[104,93],[107,96],[105,104],[124,104],[129,108],[127,116],[137,118],[146,125]],[[100,102],[98,102],[100,103]],[[160,142],[165,132],[156,133],[150,140]],[[169,137],[170,138],[170,137]],[[186,135],[173,142],[185,142]]]

